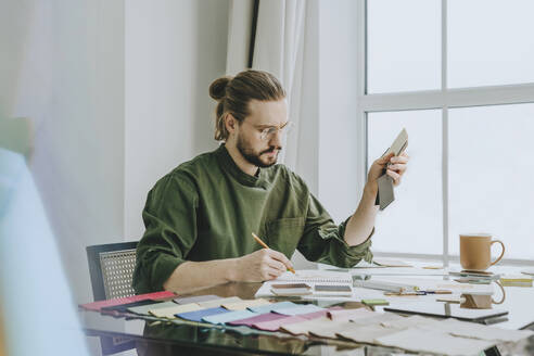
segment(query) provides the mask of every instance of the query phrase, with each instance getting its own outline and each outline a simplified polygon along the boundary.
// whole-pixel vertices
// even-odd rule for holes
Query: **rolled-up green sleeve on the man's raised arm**
[[[297,250],[309,260],[348,268],[361,259],[372,260],[371,236],[359,245],[349,246],[345,240],[348,218],[335,225],[325,207],[313,194],[308,194],[308,208],[303,237]]]

